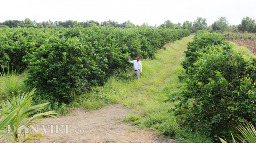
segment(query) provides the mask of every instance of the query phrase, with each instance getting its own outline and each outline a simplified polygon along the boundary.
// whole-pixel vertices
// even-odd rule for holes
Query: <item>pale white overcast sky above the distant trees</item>
[[[0,22],[5,20],[78,22],[130,20],[135,25],[160,25],[206,18],[211,25],[219,17],[231,25],[243,17],[256,19],[256,0],[0,0]]]

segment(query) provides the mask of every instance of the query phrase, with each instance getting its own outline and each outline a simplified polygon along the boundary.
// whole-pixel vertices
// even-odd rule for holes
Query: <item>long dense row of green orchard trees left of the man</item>
[[[35,29],[3,28],[0,31],[1,68],[28,69],[27,84],[37,87],[50,100],[72,101],[72,93],[82,93],[119,69],[128,69],[128,59],[137,55],[154,58],[166,42],[174,42],[190,32],[183,29],[130,29],[111,26]]]

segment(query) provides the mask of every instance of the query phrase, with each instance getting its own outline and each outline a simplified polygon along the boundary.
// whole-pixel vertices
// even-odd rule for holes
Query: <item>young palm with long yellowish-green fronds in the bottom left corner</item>
[[[35,94],[35,88],[29,93],[23,93],[20,96],[13,97],[5,102],[3,102],[2,108],[3,112],[1,114],[0,130],[2,132],[2,137],[7,140],[12,139],[11,142],[27,141],[30,139],[41,139],[43,135],[36,134],[33,135],[33,130],[30,126],[36,123],[37,120],[53,116],[55,111],[48,111],[43,113],[37,113],[48,103],[43,103],[39,105],[33,105],[33,95]],[[2,128],[1,128],[2,127]],[[0,133],[1,136],[1,133]]]

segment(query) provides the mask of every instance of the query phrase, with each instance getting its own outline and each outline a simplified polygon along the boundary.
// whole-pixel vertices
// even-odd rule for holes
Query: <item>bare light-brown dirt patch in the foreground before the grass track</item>
[[[108,105],[97,111],[77,109],[70,116],[47,118],[39,122],[38,133],[46,137],[42,143],[175,143],[121,122],[130,110]],[[57,128],[57,129],[56,129]]]

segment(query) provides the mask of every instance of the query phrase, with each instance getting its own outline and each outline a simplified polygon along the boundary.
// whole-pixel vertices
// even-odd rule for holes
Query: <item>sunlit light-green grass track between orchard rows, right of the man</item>
[[[175,43],[167,44],[167,49],[160,50],[155,60],[142,61],[143,76],[139,82],[135,82],[135,86],[138,88],[135,88],[136,90],[132,96],[128,97],[128,102],[141,99],[145,102],[141,107],[144,107],[144,105],[149,105],[148,102],[155,99],[156,95],[159,95],[165,86],[175,87],[178,82],[177,74],[179,73],[177,72],[179,70],[182,72],[180,63],[184,59],[184,50],[187,43],[192,41],[192,38],[193,36],[189,36]],[[126,101],[124,105],[126,105]],[[128,104],[128,106],[130,105]]]

